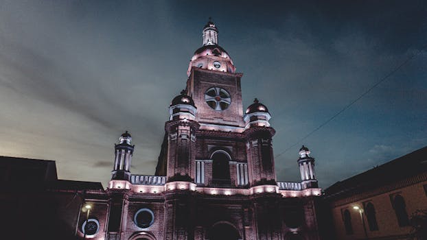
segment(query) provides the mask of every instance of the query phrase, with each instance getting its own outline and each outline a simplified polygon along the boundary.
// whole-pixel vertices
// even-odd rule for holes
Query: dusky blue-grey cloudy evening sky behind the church
[[[244,106],[266,104],[275,154],[290,148],[279,180],[299,180],[302,144],[321,187],[427,145],[426,1],[0,1],[0,154],[105,186],[129,130],[132,172],[154,173],[209,16],[244,73]]]

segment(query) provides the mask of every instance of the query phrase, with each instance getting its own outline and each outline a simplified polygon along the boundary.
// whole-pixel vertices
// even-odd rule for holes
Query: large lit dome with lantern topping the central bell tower
[[[218,45],[218,28],[209,21],[203,28],[203,47],[194,52],[189,62],[187,75],[190,75],[192,67],[235,73],[233,60],[229,53]]]

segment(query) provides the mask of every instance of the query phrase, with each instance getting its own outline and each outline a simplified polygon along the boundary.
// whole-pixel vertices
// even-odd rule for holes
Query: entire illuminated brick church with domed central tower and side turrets
[[[209,21],[170,119],[154,176],[130,173],[128,132],[115,145],[106,191],[88,191],[76,235],[91,239],[319,239],[321,195],[314,158],[302,147],[301,182],[278,182],[268,108],[244,111],[242,73]]]

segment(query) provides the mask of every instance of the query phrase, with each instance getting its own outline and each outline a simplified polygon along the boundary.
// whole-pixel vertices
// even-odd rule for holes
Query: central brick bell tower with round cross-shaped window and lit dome
[[[210,19],[203,28],[203,47],[194,52],[187,74],[186,93],[198,109],[200,129],[242,132],[242,73],[235,73],[233,60],[218,45],[218,28]]]

